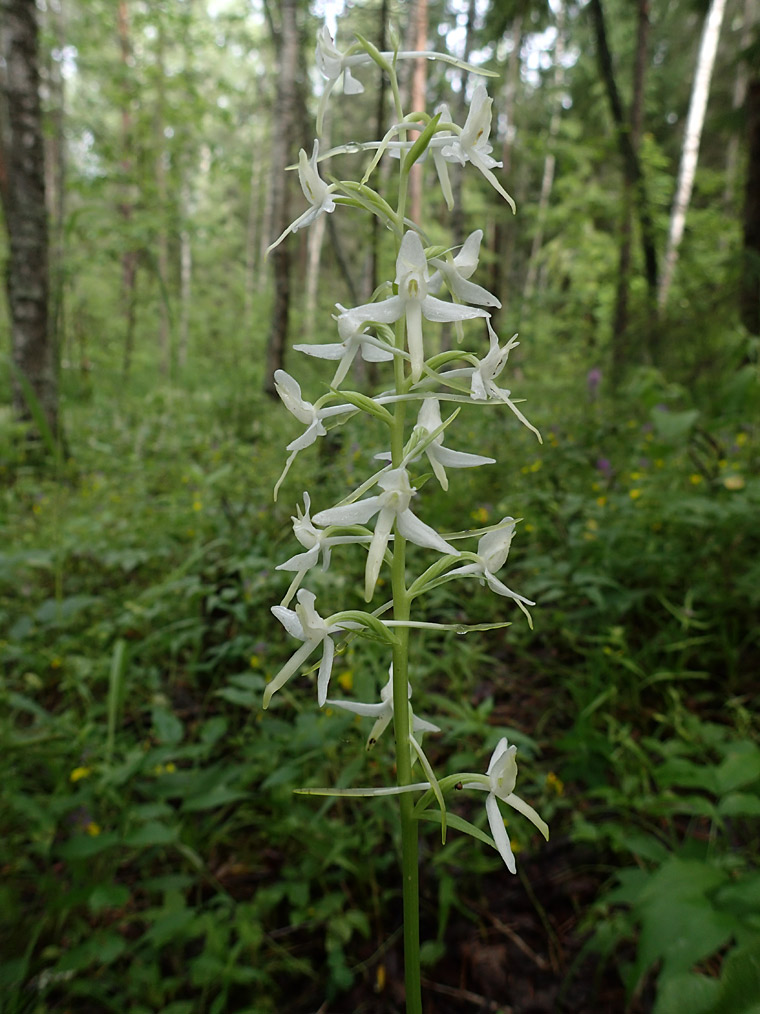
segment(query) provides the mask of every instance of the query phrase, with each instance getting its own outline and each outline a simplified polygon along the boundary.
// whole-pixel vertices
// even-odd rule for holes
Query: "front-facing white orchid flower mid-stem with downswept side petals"
[[[458,550],[449,546],[434,528],[421,521],[409,510],[409,503],[416,490],[409,483],[408,473],[405,468],[391,468],[381,473],[377,484],[383,491],[377,496],[368,497],[366,500],[359,500],[353,504],[331,507],[314,515],[314,521],[317,524],[348,525],[367,524],[377,514],[375,531],[367,555],[364,579],[364,596],[368,602],[375,590],[380,566],[394,523],[398,533],[415,546],[437,550],[439,553],[446,553],[453,557],[460,556]]]

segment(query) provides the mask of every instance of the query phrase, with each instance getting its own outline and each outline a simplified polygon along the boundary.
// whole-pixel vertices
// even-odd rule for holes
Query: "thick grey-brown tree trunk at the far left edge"
[[[3,57],[0,197],[8,232],[8,308],[14,365],[13,411],[31,421],[30,390],[54,438],[60,436],[56,350],[49,322],[49,236],[34,0],[0,3]]]

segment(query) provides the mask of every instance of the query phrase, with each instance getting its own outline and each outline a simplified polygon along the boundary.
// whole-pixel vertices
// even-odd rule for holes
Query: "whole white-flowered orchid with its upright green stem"
[[[309,225],[335,208],[349,206],[376,217],[386,234],[395,242],[395,276],[377,290],[373,298],[358,306],[336,303],[334,316],[337,342],[307,345],[296,350],[314,359],[336,363],[329,390],[315,402],[304,397],[299,382],[284,370],[275,375],[277,390],[286,409],[303,427],[288,444],[288,458],[278,480],[277,496],[289,469],[301,451],[311,447],[328,427],[341,425],[350,416],[359,414],[372,423],[372,440],[376,445],[378,423],[385,430],[383,444],[389,448],[376,455],[385,463],[356,489],[349,491],[332,506],[322,506],[313,515],[308,493],[303,494],[303,508],[293,516],[293,532],[300,552],[281,563],[277,570],[293,575],[279,605],[272,611],[288,634],[300,642],[290,659],[269,682],[263,706],[269,707],[274,696],[299,672],[304,663],[317,670],[317,703],[351,712],[359,717],[374,719],[368,748],[380,735],[393,728],[395,760],[394,784],[366,788],[314,788],[299,792],[335,796],[397,796],[401,828],[401,867],[404,913],[404,972],[407,1014],[422,1014],[419,934],[419,854],[417,836],[421,820],[441,824],[445,841],[447,826],[464,831],[477,841],[492,846],[506,866],[515,872],[516,865],[510,839],[500,811],[500,801],[518,810],[544,837],[548,828],[536,811],[520,796],[515,795],[517,780],[516,749],[506,738],[497,745],[484,775],[471,772],[448,774],[439,778],[423,749],[423,735],[440,731],[433,722],[422,719],[411,708],[412,689],[416,698],[420,676],[409,667],[412,631],[456,631],[466,634],[478,630],[509,626],[509,621],[492,624],[445,624],[412,617],[412,604],[427,592],[449,581],[476,580],[500,596],[507,605],[522,609],[530,622],[528,606],[531,599],[513,591],[497,574],[506,566],[515,535],[516,521],[505,517],[499,524],[478,530],[440,533],[421,516],[420,490],[429,478],[424,469],[429,465],[440,487],[446,491],[456,477],[450,472],[493,464],[495,458],[482,453],[454,450],[456,437],[451,437],[459,413],[465,408],[504,405],[540,440],[538,430],[517,408],[511,391],[501,386],[501,375],[507,368],[511,350],[518,344],[516,336],[500,343],[490,323],[490,310],[500,307],[499,297],[488,292],[476,280],[483,233],[475,229],[459,247],[433,246],[424,222],[412,222],[407,216],[406,194],[411,167],[430,155],[428,165],[441,186],[443,201],[451,209],[453,195],[448,178],[448,164],[471,163],[514,210],[514,202],[495,174],[500,167],[491,157],[488,140],[491,126],[491,99],[482,84],[472,92],[469,112],[463,126],[451,122],[444,105],[429,117],[426,113],[404,113],[401,105],[396,66],[399,60],[425,56],[441,59],[482,74],[477,68],[438,54],[381,53],[362,37],[347,50],[339,50],[326,29],[317,44],[317,67],[324,78],[319,102],[317,133],[334,86],[343,79],[344,93],[354,96],[365,87],[364,75],[373,65],[387,74],[394,101],[394,122],[380,140],[370,140],[330,149],[323,157],[341,153],[371,153],[369,165],[359,182],[338,179],[320,174],[319,146],[314,142],[311,156],[301,151],[298,172],[307,209],[277,239],[276,245],[290,233]],[[355,76],[360,74],[362,80]],[[420,131],[415,140],[409,130]],[[373,173],[386,156],[396,158],[398,192],[393,207],[373,189]],[[439,228],[439,222],[436,223]],[[483,328],[483,322],[485,328]],[[462,348],[456,352],[439,353],[438,336],[431,325],[453,323]],[[467,329],[465,331],[465,328]],[[480,339],[472,348],[477,329]],[[482,351],[483,332],[487,336],[487,351]],[[467,340],[466,343],[464,340]],[[392,375],[392,382],[381,394],[369,396],[345,387],[358,356],[376,363],[379,373]],[[457,365],[456,360],[464,365]],[[386,383],[388,381],[386,380]],[[455,403],[454,411],[442,418],[444,403]],[[407,410],[413,410],[407,411]],[[382,446],[382,444],[381,444]],[[371,452],[370,452],[371,453]],[[422,473],[422,474],[421,474]],[[412,504],[413,510],[412,510]],[[467,547],[477,539],[474,549]],[[407,559],[408,544],[419,548],[424,557],[432,552],[433,562],[413,577]],[[454,545],[455,544],[455,545]],[[346,609],[323,614],[317,611],[313,591],[302,587],[321,562],[322,569],[333,566],[333,558],[354,552],[358,546],[366,553],[364,597],[373,599],[384,567],[388,569],[392,597],[379,606]],[[333,552],[334,551],[334,552]],[[321,598],[328,589],[320,591]],[[295,607],[290,603],[295,598]],[[321,607],[320,607],[321,608]],[[388,681],[379,691],[379,702],[364,703],[327,697],[337,642],[364,637],[374,642],[370,651],[390,653],[392,661]],[[319,654],[320,653],[320,654]],[[319,660],[312,663],[312,656]],[[387,663],[386,663],[387,665]],[[385,668],[385,665],[383,666]],[[422,781],[413,780],[414,770],[422,769]],[[392,777],[392,776],[391,776]],[[478,823],[471,823],[448,810],[446,797],[456,789],[479,790],[486,793],[485,814],[488,835]],[[416,795],[416,804],[412,796]]]

